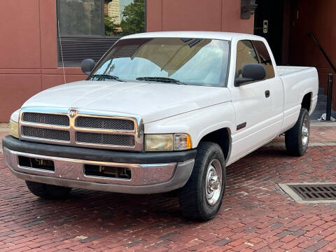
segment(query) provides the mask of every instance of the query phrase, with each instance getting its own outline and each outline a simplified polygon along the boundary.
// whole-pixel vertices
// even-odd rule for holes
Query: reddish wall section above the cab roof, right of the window
[[[148,31],[253,33],[253,16],[240,18],[239,0],[147,0]]]

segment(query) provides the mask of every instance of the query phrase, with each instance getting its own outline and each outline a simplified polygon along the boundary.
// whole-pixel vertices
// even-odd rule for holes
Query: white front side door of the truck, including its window
[[[241,77],[245,64],[261,63],[252,41],[237,42],[235,78]],[[272,63],[271,63],[272,64]],[[232,85],[232,104],[236,113],[236,132],[232,134],[232,161],[262,146],[274,137],[272,123],[272,97],[274,90],[270,80],[273,73],[264,80]]]

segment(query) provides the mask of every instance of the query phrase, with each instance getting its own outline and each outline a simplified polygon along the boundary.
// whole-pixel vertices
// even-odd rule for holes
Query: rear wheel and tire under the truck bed
[[[301,109],[299,118],[294,127],[285,133],[286,150],[290,155],[302,156],[309,144],[309,113]]]

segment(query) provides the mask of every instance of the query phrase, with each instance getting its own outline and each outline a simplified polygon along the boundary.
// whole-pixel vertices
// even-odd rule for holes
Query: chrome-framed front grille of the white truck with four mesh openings
[[[79,109],[71,117],[69,109],[48,108],[52,113],[45,110],[22,109],[20,139],[130,151],[141,151],[144,147],[144,125],[139,118],[102,116]]]

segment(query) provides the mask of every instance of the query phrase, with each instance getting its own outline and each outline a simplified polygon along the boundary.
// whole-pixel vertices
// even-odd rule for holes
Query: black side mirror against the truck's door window
[[[235,78],[236,87],[246,82],[263,80],[266,77],[265,66],[258,63],[245,64],[242,69],[242,76],[242,78]]]

